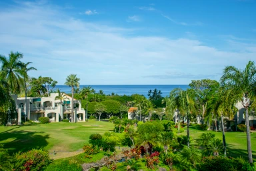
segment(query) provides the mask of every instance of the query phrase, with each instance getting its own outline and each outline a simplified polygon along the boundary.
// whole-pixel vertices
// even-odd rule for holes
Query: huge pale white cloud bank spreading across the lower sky
[[[227,65],[244,68],[255,59],[247,51],[220,51],[196,39],[138,36],[135,29],[89,23],[46,5],[19,5],[0,11],[0,52],[23,53],[38,71],[63,84],[77,74],[81,85],[188,84],[191,79],[219,79]],[[19,26],[19,29],[17,29]],[[134,33],[134,34],[130,34]],[[129,36],[127,36],[129,35]],[[171,77],[171,75],[179,77]],[[159,76],[159,77],[157,77]]]

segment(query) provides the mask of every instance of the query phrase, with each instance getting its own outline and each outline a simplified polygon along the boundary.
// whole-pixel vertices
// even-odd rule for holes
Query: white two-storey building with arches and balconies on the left
[[[18,98],[17,95],[12,95],[17,105],[18,124],[21,124],[21,117],[24,117],[25,114],[29,120],[36,121],[39,117],[49,117],[51,122],[59,122],[62,112],[63,119],[69,119],[72,98],[65,94],[67,98],[61,107],[60,100],[55,100],[58,95],[58,93],[51,93],[48,97],[27,97],[27,107],[25,106],[25,97]],[[73,102],[75,118],[77,121],[85,121],[85,110],[81,108],[81,101],[74,98]]]

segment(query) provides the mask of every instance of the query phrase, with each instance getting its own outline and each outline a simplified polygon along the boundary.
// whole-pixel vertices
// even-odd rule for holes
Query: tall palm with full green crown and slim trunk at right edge
[[[247,134],[247,150],[249,162],[253,162],[251,152],[251,135],[249,128],[249,108],[255,102],[253,98],[256,95],[256,67],[253,61],[249,61],[244,70],[236,67],[225,67],[221,77],[221,85],[230,89],[233,94],[232,98],[242,102],[245,108],[245,123]]]

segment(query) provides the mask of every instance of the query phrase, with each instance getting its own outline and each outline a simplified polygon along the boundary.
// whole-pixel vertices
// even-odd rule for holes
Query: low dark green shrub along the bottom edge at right
[[[249,163],[248,163],[249,164]],[[197,164],[199,171],[243,171],[247,162],[242,158],[225,158],[223,156],[207,156]]]

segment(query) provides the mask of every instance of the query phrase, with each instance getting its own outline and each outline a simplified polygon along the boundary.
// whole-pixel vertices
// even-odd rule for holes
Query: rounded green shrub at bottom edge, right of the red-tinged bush
[[[45,168],[45,171],[63,171],[63,170],[69,170],[69,171],[82,171],[83,168],[81,164],[78,164],[75,160],[55,160],[53,163],[51,163],[47,168]]]

